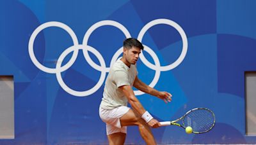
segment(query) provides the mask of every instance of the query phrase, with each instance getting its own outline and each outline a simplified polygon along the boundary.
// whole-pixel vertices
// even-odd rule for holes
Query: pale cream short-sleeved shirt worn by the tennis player
[[[105,82],[104,92],[100,107],[103,109],[114,109],[118,106],[127,106],[127,97],[118,89],[119,86],[133,86],[138,72],[135,65],[126,66],[122,60],[116,60],[109,70]]]

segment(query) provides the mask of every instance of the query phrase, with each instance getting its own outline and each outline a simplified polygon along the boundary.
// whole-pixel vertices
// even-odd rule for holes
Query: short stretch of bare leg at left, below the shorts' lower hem
[[[116,132],[114,134],[108,135],[109,145],[119,145],[124,144],[126,134],[123,132]]]

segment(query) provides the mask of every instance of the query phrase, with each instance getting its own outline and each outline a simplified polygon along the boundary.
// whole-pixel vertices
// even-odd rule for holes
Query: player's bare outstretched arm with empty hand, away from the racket
[[[138,90],[141,90],[142,92],[148,93],[150,95],[154,95],[158,97],[159,99],[164,100],[164,102],[171,102],[172,100],[172,94],[168,92],[160,92],[154,88],[151,88],[147,84],[143,83],[138,76],[134,79],[133,86],[137,88]]]

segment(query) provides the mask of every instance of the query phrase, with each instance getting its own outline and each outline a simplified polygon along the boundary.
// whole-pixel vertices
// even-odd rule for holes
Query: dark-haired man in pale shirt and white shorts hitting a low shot
[[[124,144],[127,126],[131,125],[138,125],[141,137],[147,144],[156,144],[150,127],[161,125],[143,108],[134,95],[132,86],[163,99],[166,103],[172,100],[170,93],[159,92],[138,78],[135,64],[141,50],[143,45],[140,41],[134,38],[125,39],[123,57],[116,60],[106,79],[99,114],[106,123],[109,144]],[[127,102],[132,109],[127,107]]]

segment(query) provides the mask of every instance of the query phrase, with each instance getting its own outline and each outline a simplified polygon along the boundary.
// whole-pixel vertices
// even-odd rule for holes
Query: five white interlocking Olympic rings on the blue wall
[[[173,62],[172,64],[170,64],[168,66],[161,66],[156,53],[154,53],[154,51],[152,49],[150,49],[147,45],[144,45],[144,50],[152,56],[152,59],[154,60],[154,63],[155,63],[155,65],[154,65],[154,64],[148,62],[148,60],[144,57],[143,53],[141,53],[141,55],[140,55],[141,62],[143,62],[143,64],[145,64],[145,66],[156,71],[154,79],[148,85],[150,87],[154,87],[157,84],[157,81],[160,77],[161,71],[170,71],[170,70],[174,69],[175,67],[179,66],[179,64],[186,57],[186,53],[188,51],[188,39],[187,39],[186,33],[184,32],[182,27],[180,27],[180,25],[177,24],[176,22],[173,22],[172,20],[168,20],[168,19],[164,19],[164,18],[160,18],[160,19],[156,19],[156,20],[152,20],[151,22],[148,22],[148,24],[146,24],[141,29],[137,39],[142,42],[145,32],[147,32],[148,29],[150,29],[150,27],[153,27],[154,25],[158,25],[158,24],[170,25],[170,26],[174,27],[179,32],[181,39],[182,39],[182,52],[180,53],[179,58],[177,60],[175,60],[175,62]],[[68,27],[68,25],[65,25],[61,22],[46,22],[46,23],[38,26],[35,29],[35,31],[31,34],[31,37],[29,39],[29,45],[28,45],[29,56],[30,56],[33,64],[35,64],[35,66],[38,67],[38,69],[40,69],[41,71],[47,72],[47,73],[56,74],[58,83],[60,84],[61,88],[63,88],[63,90],[65,90],[67,93],[70,93],[71,95],[75,95],[77,97],[85,97],[88,95],[92,95],[92,93],[95,93],[97,90],[99,90],[100,86],[102,86],[102,84],[104,83],[104,79],[106,78],[106,72],[109,72],[109,68],[115,63],[115,61],[118,59],[118,57],[123,52],[122,47],[119,48],[111,59],[110,67],[106,67],[106,63],[105,63],[102,55],[95,48],[88,45],[88,39],[89,39],[90,35],[92,34],[92,32],[95,31],[95,29],[102,27],[104,25],[111,25],[113,27],[116,27],[124,33],[126,38],[131,38],[131,34],[124,27],[124,25],[122,25],[116,21],[113,21],[113,20],[102,20],[100,22],[97,22],[96,24],[93,24],[88,29],[88,31],[86,31],[86,33],[84,34],[84,38],[83,38],[83,44],[79,45],[76,34],[74,33],[74,31],[72,31],[72,29],[70,27]],[[45,67],[42,64],[40,64],[40,62],[38,62],[38,60],[36,59],[35,53],[33,50],[33,45],[34,45],[36,36],[38,35],[38,33],[40,31],[44,30],[47,27],[60,27],[61,29],[64,29],[71,36],[72,41],[74,43],[73,46],[70,46],[69,48],[64,50],[63,53],[61,53],[61,55],[57,61],[58,63],[56,64],[56,68],[49,68],[49,67]],[[74,62],[77,59],[79,50],[83,50],[84,59],[88,62],[88,64],[90,64],[90,66],[93,67],[94,69],[96,69],[97,71],[101,72],[98,83],[95,86],[93,86],[92,88],[90,88],[89,90],[85,90],[85,91],[72,90],[72,88],[68,87],[65,84],[65,82],[63,81],[63,78],[61,77],[61,72],[66,71],[68,68],[70,68],[74,64]],[[97,57],[97,59],[100,62],[100,66],[98,64],[96,64],[95,62],[93,62],[93,60],[88,55],[88,51],[93,53],[93,55],[95,55]],[[73,52],[71,59],[67,62],[67,64],[61,66],[61,63],[63,62],[65,57],[67,57],[67,55],[71,52]],[[141,92],[140,90],[136,90],[136,91],[134,91],[134,93],[135,93],[135,95],[143,94],[143,92]]]

